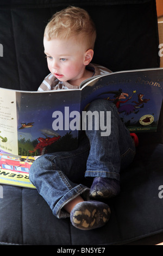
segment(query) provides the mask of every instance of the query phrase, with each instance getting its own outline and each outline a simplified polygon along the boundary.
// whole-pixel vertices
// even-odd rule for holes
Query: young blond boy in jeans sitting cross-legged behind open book
[[[79,88],[87,78],[109,73],[90,64],[95,39],[95,25],[85,10],[68,7],[54,14],[43,38],[51,74],[38,90]],[[120,192],[120,168],[125,168],[135,154],[133,140],[113,103],[95,100],[87,111],[111,111],[110,135],[101,136],[101,130],[92,127],[81,136],[78,149],[42,155],[29,172],[30,181],[53,214],[70,217],[74,227],[84,230],[108,222],[110,208],[100,200]],[[91,188],[86,185],[89,180]]]

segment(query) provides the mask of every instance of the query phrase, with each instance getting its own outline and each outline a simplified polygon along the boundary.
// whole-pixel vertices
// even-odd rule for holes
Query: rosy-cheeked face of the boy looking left
[[[92,59],[76,36],[69,39],[43,39],[48,69],[59,81],[78,83]],[[91,59],[90,59],[91,58]],[[78,85],[78,84],[77,84]]]

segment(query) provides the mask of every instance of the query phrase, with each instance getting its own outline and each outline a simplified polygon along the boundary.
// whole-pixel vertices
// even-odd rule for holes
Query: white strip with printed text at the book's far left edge
[[[0,88],[0,153],[17,154],[16,94]]]

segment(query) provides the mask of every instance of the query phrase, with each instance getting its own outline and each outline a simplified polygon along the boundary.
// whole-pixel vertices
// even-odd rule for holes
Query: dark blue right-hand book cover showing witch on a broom
[[[162,105],[163,69],[120,71],[96,77],[82,87],[81,94],[82,111],[93,100],[105,99],[116,105],[130,132],[154,132]]]

